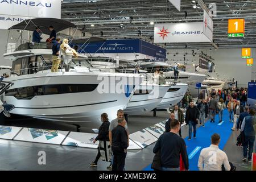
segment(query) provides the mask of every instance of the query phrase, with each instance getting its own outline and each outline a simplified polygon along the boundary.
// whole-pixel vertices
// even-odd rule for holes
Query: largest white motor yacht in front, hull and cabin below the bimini
[[[118,109],[126,108],[143,81],[138,74],[100,72],[81,59],[73,60],[69,72],[52,73],[51,54],[51,49],[34,48],[3,55],[13,61],[10,77],[4,81],[14,85],[3,96],[15,106],[11,114],[48,121],[100,122],[100,115],[108,113],[111,120]]]

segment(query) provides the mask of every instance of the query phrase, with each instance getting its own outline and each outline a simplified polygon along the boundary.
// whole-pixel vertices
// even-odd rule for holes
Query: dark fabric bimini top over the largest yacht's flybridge
[[[76,25],[63,19],[34,18],[34,19],[26,19],[23,22],[15,24],[14,26],[8,29],[34,31],[35,28],[38,27],[40,31],[42,31],[44,34],[50,35],[51,31],[49,31],[49,28],[48,28],[49,26],[53,26],[54,30],[56,32],[59,32],[70,27],[75,27]]]

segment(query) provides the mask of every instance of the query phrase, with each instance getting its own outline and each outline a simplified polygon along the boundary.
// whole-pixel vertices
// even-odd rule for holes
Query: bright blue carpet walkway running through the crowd
[[[233,123],[229,122],[229,113],[228,110],[224,110],[224,117],[222,123],[218,123],[218,115],[215,117],[215,123],[207,122],[205,127],[199,127],[197,129],[196,138],[188,140],[188,137],[185,138],[185,143],[187,144],[187,152],[189,158],[189,170],[198,171],[197,162],[199,159],[200,152],[203,148],[210,146],[210,137],[212,134],[217,133],[221,136],[221,142],[219,148],[223,150],[226,142],[230,135],[232,134],[231,128]],[[193,135],[193,131],[192,131]],[[143,169],[143,171],[152,171],[151,164]]]

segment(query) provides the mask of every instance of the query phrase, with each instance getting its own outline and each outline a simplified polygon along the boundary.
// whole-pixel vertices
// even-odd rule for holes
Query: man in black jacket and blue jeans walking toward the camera
[[[188,140],[191,140],[192,136],[192,127],[193,127],[193,137],[196,138],[196,125],[199,120],[199,110],[197,107],[194,106],[194,102],[190,102],[189,107],[186,111],[186,116],[185,116],[185,122],[186,125],[189,125],[189,130],[188,130]]]

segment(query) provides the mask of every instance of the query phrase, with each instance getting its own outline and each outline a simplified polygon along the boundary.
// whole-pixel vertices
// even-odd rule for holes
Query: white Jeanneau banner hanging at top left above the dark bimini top
[[[60,18],[60,10],[61,0],[0,0],[0,29],[25,19]]]

